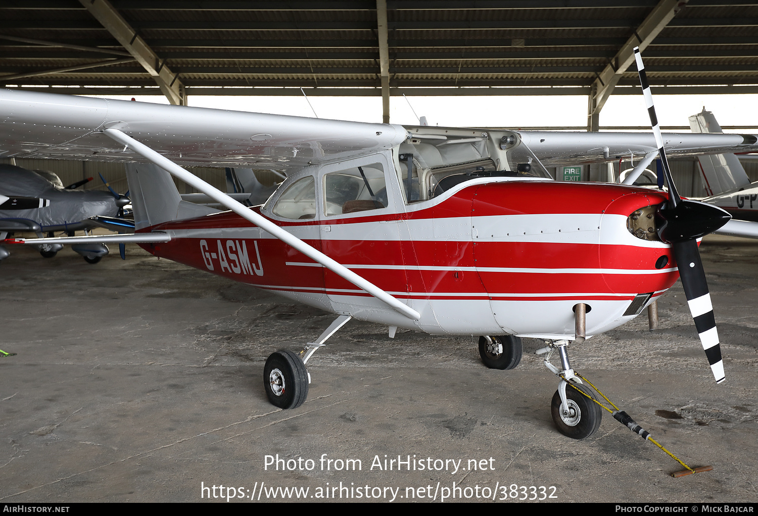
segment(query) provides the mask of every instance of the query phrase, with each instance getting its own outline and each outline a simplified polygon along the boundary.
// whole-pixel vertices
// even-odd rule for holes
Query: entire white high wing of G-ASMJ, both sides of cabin
[[[446,145],[443,127],[406,128],[0,89],[0,156],[144,161],[102,135],[111,127],[178,164],[219,167],[287,170],[341,161],[399,145],[409,132],[440,149]],[[470,138],[472,145],[488,139],[508,153],[511,164],[532,157],[546,165],[613,161],[657,152],[650,133],[491,130],[477,134],[481,137]],[[667,152],[674,156],[758,150],[756,135],[666,133],[663,137]]]

